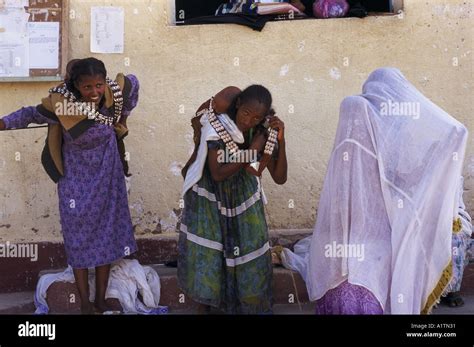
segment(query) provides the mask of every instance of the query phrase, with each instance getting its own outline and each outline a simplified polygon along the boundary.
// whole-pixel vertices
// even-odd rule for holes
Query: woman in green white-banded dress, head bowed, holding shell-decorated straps
[[[259,175],[265,166],[275,183],[285,183],[287,160],[284,124],[272,115],[271,104],[262,86],[242,92],[228,87],[201,106],[202,116],[195,118],[200,126],[193,122],[200,131],[183,170],[178,278],[183,292],[202,307],[272,312],[272,262]],[[260,170],[250,165],[255,159]]]

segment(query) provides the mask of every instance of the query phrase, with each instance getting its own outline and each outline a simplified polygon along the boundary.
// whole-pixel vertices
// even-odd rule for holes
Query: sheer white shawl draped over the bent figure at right
[[[394,68],[340,108],[312,236],[311,300],[346,284],[384,313],[429,313],[452,276],[468,132]]]

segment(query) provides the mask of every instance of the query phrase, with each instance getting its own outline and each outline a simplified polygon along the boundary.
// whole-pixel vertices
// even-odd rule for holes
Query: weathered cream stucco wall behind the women
[[[252,83],[271,90],[287,127],[288,182],[277,186],[264,178],[270,226],[312,227],[339,104],[381,66],[398,67],[470,130],[465,198],[474,212],[473,1],[405,0],[400,16],[272,22],[260,33],[236,25],[169,25],[164,0],[70,3],[70,58],[92,55],[91,6],[125,8],[125,53],[94,56],[109,75],[134,73],[141,81],[127,138],[137,235],[151,236],[158,222],[164,231],[174,229],[195,109],[225,86]],[[51,85],[1,83],[0,114],[37,104]],[[3,240],[61,240],[56,187],[39,161],[44,130],[0,133]]]

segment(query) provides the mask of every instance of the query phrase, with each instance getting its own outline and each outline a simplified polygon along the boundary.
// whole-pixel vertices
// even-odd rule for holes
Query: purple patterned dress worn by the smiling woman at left
[[[131,89],[122,115],[138,102],[139,83]],[[108,115],[107,108],[100,113]],[[9,128],[56,123],[36,107],[24,107],[3,118]],[[110,264],[137,250],[128,208],[122,162],[113,127],[95,123],[75,140],[63,130],[64,176],[58,182],[59,213],[68,264],[82,269]]]

